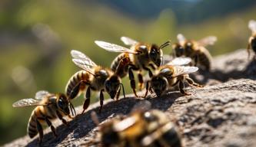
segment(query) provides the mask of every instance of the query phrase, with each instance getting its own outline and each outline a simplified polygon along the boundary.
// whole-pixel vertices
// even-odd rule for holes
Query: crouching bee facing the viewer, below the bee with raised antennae
[[[185,81],[193,87],[203,87],[198,83],[194,83],[189,77],[189,73],[194,73],[198,67],[185,67],[181,65],[188,64],[191,61],[189,58],[177,58],[168,64],[162,65],[155,70],[155,75],[147,82],[145,96],[148,95],[148,90],[155,92],[157,96],[165,94],[169,88],[178,85],[179,90],[184,95],[190,95],[185,89]]]

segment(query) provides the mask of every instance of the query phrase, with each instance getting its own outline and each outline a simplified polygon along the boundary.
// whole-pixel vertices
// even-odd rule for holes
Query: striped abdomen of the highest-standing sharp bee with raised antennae
[[[119,77],[125,77],[128,73],[128,65],[131,64],[129,54],[122,53],[111,63],[111,70],[113,70]]]

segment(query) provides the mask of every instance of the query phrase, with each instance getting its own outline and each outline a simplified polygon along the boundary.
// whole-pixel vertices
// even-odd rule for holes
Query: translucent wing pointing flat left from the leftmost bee
[[[17,102],[13,103],[13,107],[24,107],[24,106],[44,106],[47,103],[42,103],[42,100],[35,100],[32,98],[18,100]]]

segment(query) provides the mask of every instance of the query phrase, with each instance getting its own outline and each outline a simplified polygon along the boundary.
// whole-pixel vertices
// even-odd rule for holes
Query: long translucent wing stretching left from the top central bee
[[[106,51],[118,52],[118,53],[128,53],[128,54],[138,54],[137,51],[132,51],[126,47],[121,47],[117,44],[111,44],[105,41],[95,41],[99,47],[105,49]]]

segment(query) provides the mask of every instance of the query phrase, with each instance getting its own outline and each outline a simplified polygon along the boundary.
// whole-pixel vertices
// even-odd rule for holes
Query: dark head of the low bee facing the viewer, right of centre
[[[151,78],[151,88],[157,96],[161,96],[167,89],[168,81],[165,77],[155,76]]]

